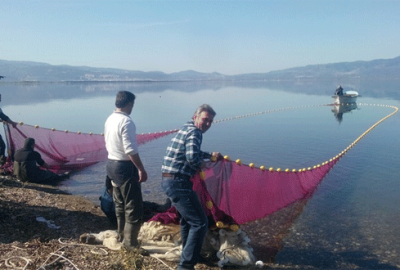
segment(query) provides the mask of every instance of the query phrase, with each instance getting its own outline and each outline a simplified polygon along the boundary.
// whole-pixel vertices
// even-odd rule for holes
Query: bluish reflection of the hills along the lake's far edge
[[[340,83],[364,97],[400,100],[400,80],[320,80],[320,81],[187,81],[187,82],[0,82],[0,92],[7,105],[36,104],[54,99],[114,96],[117,91],[158,93],[168,90],[193,93],[226,88],[270,89],[306,95],[330,95]]]

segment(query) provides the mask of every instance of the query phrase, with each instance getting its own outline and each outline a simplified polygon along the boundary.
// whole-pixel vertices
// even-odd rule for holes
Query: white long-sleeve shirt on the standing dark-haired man
[[[139,152],[136,142],[136,126],[126,113],[114,112],[107,118],[104,125],[104,139],[108,159],[130,160],[129,155]]]

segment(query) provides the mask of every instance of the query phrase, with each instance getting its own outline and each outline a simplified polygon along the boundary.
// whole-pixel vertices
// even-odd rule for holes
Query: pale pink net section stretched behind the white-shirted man
[[[176,130],[138,134],[136,139],[142,145],[174,132]],[[35,150],[55,173],[80,170],[107,160],[104,136],[101,134],[59,131],[31,125],[18,125],[16,128],[5,125],[5,133],[11,156],[23,147],[26,138],[34,138]]]

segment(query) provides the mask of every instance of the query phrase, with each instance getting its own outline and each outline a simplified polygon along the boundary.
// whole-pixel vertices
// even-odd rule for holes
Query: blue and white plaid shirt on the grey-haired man
[[[200,150],[202,140],[203,133],[194,122],[187,122],[167,147],[161,171],[192,177],[200,168],[201,161],[211,157]]]

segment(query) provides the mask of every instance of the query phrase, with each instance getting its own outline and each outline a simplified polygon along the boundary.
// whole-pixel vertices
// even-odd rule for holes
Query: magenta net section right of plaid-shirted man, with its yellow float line
[[[373,124],[338,155],[313,167],[299,170],[275,170],[272,167],[266,169],[265,166],[257,168],[254,163],[242,164],[240,159],[231,161],[229,156],[225,156],[223,160],[207,162],[206,168],[191,179],[193,190],[205,206],[206,214],[213,217],[217,228],[237,230],[238,225],[263,218],[296,201],[307,200],[348,150],[398,111],[395,106],[372,106],[390,107],[394,111]],[[303,107],[315,106],[301,106]],[[272,111],[281,110],[283,109]],[[254,115],[257,114],[230,120]]]

